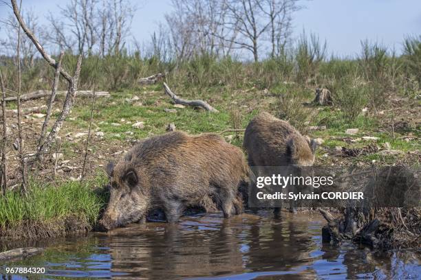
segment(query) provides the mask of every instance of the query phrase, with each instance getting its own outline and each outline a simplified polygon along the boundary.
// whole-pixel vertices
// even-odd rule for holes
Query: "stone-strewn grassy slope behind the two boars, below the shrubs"
[[[72,113],[59,133],[61,139],[58,145],[52,149],[52,154],[45,156],[40,167],[32,167],[30,174],[43,180],[78,180],[87,152],[87,176],[97,176],[103,174],[102,168],[108,161],[118,161],[137,139],[162,134],[169,124],[192,134],[245,128],[248,121],[261,110],[279,114],[277,100],[280,94],[255,88],[177,91],[180,97],[201,98],[219,110],[219,113],[207,113],[202,108],[173,104],[160,84],[111,92],[111,97],[98,97],[95,100],[87,150],[91,99],[76,97]],[[314,97],[312,94],[311,89],[305,90],[309,102]],[[54,103],[52,121],[60,112],[63,99],[63,96],[58,97]],[[24,110],[39,108],[25,114],[22,119],[25,154],[36,150],[46,102],[45,97],[23,102]],[[381,110],[365,108],[353,124],[345,121],[336,106],[303,106],[307,106],[313,114],[305,124],[306,132],[321,143],[315,165],[420,165],[420,100],[391,97]],[[18,152],[13,145],[17,139],[17,117],[11,111],[13,109],[16,109],[16,104],[8,103],[10,187],[16,186],[20,180]],[[235,145],[242,145],[241,132],[226,132],[224,137]]]

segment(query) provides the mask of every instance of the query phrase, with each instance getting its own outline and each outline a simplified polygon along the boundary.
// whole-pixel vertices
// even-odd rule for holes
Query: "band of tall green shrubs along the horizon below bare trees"
[[[421,36],[404,40],[402,55],[397,56],[378,43],[362,42],[357,58],[327,58],[326,46],[316,36],[302,36],[296,47],[274,58],[244,62],[230,56],[196,55],[188,60],[162,61],[156,56],[144,58],[139,52],[98,56],[86,55],[82,62],[79,88],[119,90],[138,87],[138,79],[165,73],[171,84],[182,87],[227,86],[233,89],[255,86],[271,89],[295,83],[298,86],[327,87],[341,84],[369,84],[376,91],[400,91],[416,95],[421,83]],[[63,67],[70,72],[77,56],[65,54]],[[0,57],[9,93],[17,85],[16,59]],[[23,92],[48,89],[52,84],[51,67],[41,58],[31,66],[22,62]],[[63,87],[64,89],[64,87]],[[376,95],[377,93],[374,93]]]

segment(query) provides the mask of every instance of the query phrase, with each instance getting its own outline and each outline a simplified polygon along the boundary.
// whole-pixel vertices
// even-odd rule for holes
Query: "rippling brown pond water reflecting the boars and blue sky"
[[[323,224],[319,215],[304,213],[283,213],[279,220],[270,211],[228,220],[195,215],[177,225],[136,224],[58,240],[44,255],[4,267],[43,266],[48,278],[415,279],[420,274],[419,251],[381,255],[352,244],[336,248],[322,244]]]

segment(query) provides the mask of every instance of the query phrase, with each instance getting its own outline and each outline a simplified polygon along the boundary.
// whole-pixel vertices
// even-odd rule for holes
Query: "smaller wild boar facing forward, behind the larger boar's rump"
[[[271,176],[273,168],[270,167],[288,167],[281,168],[284,176],[291,170],[295,172],[294,175],[302,175],[298,173],[306,170],[303,166],[312,166],[314,163],[316,141],[301,135],[287,121],[264,112],[248,124],[244,133],[244,148],[248,152],[248,164],[255,167],[253,171],[257,176]],[[290,210],[296,211],[294,202],[291,202]],[[275,213],[279,213],[279,208],[275,208]]]

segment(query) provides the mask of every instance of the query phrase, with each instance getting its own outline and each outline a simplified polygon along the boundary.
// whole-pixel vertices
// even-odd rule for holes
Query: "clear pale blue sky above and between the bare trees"
[[[1,2],[1,1],[0,1]],[[57,12],[57,5],[66,0],[23,0],[24,9],[32,9],[41,23],[47,23],[47,11]],[[164,14],[171,12],[170,0],[131,0],[138,5],[131,34],[138,41],[149,40]],[[402,39],[421,34],[421,0],[312,0],[301,1],[305,8],[294,14],[294,38],[303,30],[327,40],[330,54],[355,56],[360,53],[360,41],[371,40],[402,49]],[[10,8],[0,4],[0,20]],[[0,23],[1,25],[1,23]],[[4,32],[0,30],[0,36]]]

